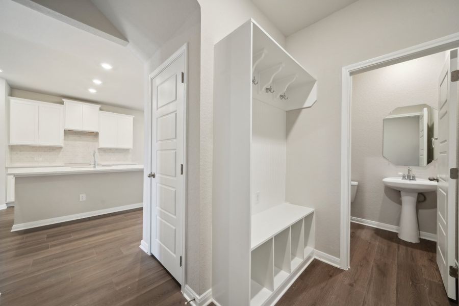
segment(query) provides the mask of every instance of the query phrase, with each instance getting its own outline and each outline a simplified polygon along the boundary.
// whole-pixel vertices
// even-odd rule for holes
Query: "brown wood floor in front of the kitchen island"
[[[140,248],[142,211],[11,233],[0,211],[1,306],[183,305],[180,286]]]

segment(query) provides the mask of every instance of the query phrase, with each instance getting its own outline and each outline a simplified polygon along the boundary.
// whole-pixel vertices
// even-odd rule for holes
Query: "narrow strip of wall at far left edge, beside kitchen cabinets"
[[[5,79],[0,78],[0,124],[4,129],[0,134],[0,209],[6,208],[6,151],[8,147],[7,122],[7,100],[10,94],[10,87]],[[4,122],[4,123],[2,123]]]

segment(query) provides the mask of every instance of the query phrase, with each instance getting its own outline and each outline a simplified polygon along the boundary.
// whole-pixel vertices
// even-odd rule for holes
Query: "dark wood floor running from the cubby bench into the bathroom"
[[[409,243],[351,223],[351,268],[314,260],[276,305],[455,305],[441,283],[435,250],[435,242]]]

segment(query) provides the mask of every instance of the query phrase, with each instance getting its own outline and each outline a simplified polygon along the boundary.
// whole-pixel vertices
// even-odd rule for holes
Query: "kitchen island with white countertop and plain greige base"
[[[143,165],[8,168],[15,177],[11,231],[143,206]]]

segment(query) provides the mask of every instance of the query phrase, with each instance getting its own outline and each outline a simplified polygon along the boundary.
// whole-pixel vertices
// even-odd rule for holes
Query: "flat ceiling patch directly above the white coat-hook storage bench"
[[[252,0],[285,36],[323,19],[357,0]]]

